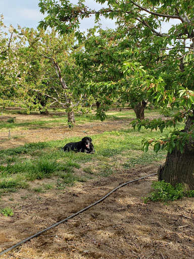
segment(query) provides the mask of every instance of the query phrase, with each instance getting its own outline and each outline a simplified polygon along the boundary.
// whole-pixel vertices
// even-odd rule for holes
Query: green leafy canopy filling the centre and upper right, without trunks
[[[176,128],[178,122],[193,118],[194,110],[194,69],[193,69],[193,1],[133,1],[124,3],[112,0],[95,0],[105,3],[109,8],[95,12],[96,22],[101,16],[116,19],[115,30],[90,29],[84,49],[76,54],[76,61],[84,70],[87,94],[98,101],[110,105],[114,98],[121,103],[130,102],[131,107],[147,99],[151,104],[161,107],[169,119],[143,120],[133,122],[133,127],[141,126],[151,130],[165,127]],[[40,12],[47,16],[40,23],[41,28],[55,27],[59,33],[71,33],[79,28],[81,19],[93,14],[79,1],[77,5],[64,1],[59,5],[51,0],[40,0]],[[65,19],[61,19],[61,17]],[[162,22],[168,22],[165,32],[161,32]],[[76,35],[79,32],[77,31]],[[81,35],[80,35],[81,36]],[[191,46],[187,46],[187,42]],[[88,69],[89,68],[89,69]],[[184,108],[171,113],[170,108]],[[105,119],[105,111],[96,115]],[[154,145],[158,152],[164,148],[182,153],[184,145],[194,143],[194,120],[191,127],[182,129],[168,137],[143,140],[143,150]],[[188,142],[189,140],[189,142]]]

